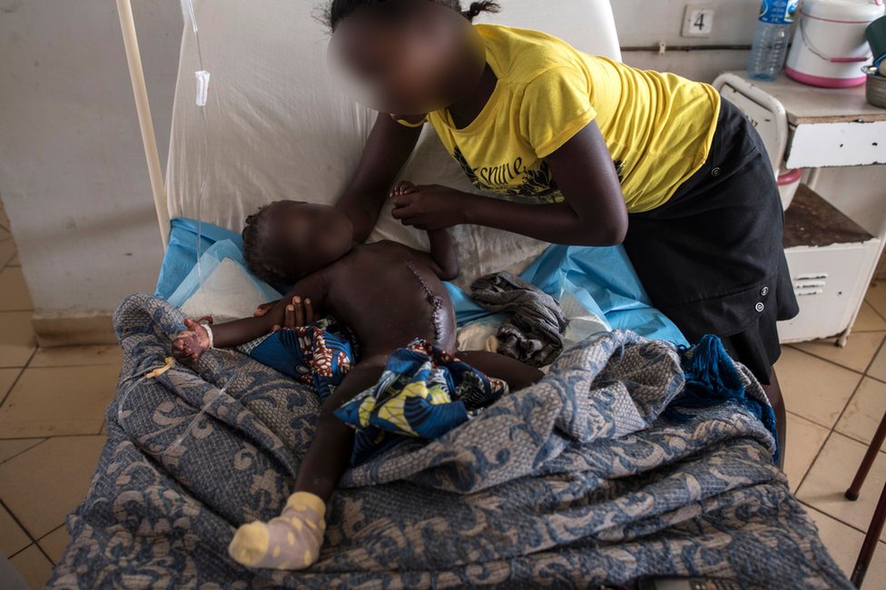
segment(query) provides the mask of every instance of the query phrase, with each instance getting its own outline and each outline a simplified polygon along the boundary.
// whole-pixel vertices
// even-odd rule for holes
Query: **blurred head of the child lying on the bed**
[[[246,218],[246,266],[268,282],[299,280],[347,254],[354,245],[348,217],[334,207],[278,201]]]

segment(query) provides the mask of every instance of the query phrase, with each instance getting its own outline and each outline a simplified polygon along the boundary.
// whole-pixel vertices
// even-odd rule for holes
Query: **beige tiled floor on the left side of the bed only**
[[[37,349],[31,309],[0,210],[0,554],[40,588],[67,544],[64,516],[89,487],[122,355]]]

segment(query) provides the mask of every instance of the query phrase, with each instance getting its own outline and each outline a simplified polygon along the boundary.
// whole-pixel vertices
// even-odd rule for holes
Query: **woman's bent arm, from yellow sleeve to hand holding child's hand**
[[[531,205],[418,186],[394,199],[394,217],[427,230],[475,223],[558,244],[611,246],[624,241],[625,198],[596,122],[546,160],[566,202]]]

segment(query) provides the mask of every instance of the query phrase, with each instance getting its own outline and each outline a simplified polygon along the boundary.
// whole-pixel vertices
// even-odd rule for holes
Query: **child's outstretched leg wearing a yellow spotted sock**
[[[326,529],[326,503],[349,466],[354,441],[354,431],[332,412],[375,385],[384,368],[384,359],[360,362],[326,400],[317,432],[301,460],[295,493],[281,516],[237,530],[228,547],[236,561],[251,567],[288,570],[304,569],[317,561]]]

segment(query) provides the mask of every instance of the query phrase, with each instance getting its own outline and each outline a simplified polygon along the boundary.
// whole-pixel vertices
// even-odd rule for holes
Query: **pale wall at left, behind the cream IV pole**
[[[133,5],[165,162],[182,12]],[[115,4],[0,0],[0,55],[0,195],[35,317],[109,328],[124,296],[153,291],[162,259]]]

